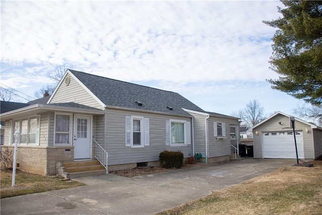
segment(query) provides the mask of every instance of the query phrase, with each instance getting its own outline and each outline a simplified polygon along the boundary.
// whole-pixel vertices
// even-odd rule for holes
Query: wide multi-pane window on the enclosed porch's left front
[[[40,116],[32,116],[14,120],[12,142],[15,142],[15,132],[19,131],[18,144],[36,145],[39,144]]]

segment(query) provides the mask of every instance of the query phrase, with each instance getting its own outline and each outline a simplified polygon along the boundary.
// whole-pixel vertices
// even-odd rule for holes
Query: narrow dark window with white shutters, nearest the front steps
[[[149,146],[149,118],[142,116],[125,117],[125,146],[143,148]]]

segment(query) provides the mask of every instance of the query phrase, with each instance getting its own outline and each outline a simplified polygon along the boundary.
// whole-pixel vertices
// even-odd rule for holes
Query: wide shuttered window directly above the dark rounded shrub
[[[170,119],[166,121],[166,145],[171,147],[187,146],[191,142],[191,122]]]

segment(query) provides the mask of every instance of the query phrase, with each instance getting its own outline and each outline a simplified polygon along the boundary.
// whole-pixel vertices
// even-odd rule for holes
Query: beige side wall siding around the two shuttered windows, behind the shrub
[[[125,117],[131,115],[149,118],[149,146],[144,146],[144,148],[125,146]],[[166,146],[166,120],[169,119],[191,122],[191,118],[189,117],[107,109],[105,132],[106,150],[109,153],[109,165],[158,161],[160,152],[164,150],[180,150],[185,158],[192,156],[192,144],[185,147]]]

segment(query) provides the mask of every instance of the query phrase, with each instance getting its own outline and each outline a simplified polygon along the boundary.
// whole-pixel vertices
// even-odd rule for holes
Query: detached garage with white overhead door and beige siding
[[[254,133],[254,158],[296,159],[290,115],[276,112],[251,129]],[[295,118],[295,139],[299,159],[322,156],[322,128]]]

